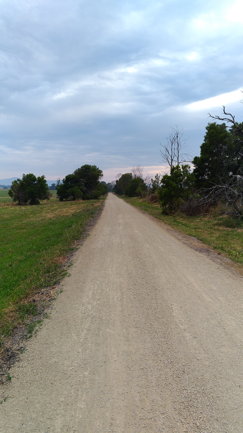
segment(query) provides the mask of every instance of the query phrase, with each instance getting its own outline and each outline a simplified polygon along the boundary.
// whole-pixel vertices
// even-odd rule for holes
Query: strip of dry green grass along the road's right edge
[[[141,202],[138,197],[118,196],[139,207],[173,229],[193,236],[225,257],[243,265],[243,221],[217,216],[163,215],[158,204]]]

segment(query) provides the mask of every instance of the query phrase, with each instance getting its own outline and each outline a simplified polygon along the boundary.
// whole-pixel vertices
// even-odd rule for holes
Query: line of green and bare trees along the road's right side
[[[183,139],[182,130],[176,126],[160,149],[162,162],[168,165],[169,172],[144,179],[142,168],[135,167],[131,173],[118,174],[114,192],[159,202],[162,212],[167,214],[178,210],[196,214],[221,203],[222,214],[241,218],[243,123],[237,123],[225,107],[223,114],[224,117],[209,114],[213,120],[223,123],[208,123],[199,156],[191,159],[190,153],[185,153],[187,139]]]

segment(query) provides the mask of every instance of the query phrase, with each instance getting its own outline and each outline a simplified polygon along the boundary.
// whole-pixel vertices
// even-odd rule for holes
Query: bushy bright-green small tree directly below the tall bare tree
[[[187,164],[173,166],[170,174],[164,174],[158,193],[163,213],[174,213],[189,199],[194,181],[194,174]]]

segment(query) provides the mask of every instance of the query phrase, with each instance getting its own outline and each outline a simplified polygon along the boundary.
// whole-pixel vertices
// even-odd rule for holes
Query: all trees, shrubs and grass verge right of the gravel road
[[[184,153],[186,140],[171,128],[161,145],[167,173],[144,178],[143,168],[118,173],[113,191],[181,233],[243,264],[243,123],[225,111],[211,116],[200,155]],[[223,123],[217,123],[222,121]],[[190,162],[190,164],[189,164]]]

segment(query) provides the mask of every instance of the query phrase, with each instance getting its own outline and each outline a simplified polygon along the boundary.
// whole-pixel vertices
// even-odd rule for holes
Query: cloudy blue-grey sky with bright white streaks
[[[239,0],[0,0],[0,179],[163,172],[176,125],[199,155],[208,112],[242,121],[242,48]]]

